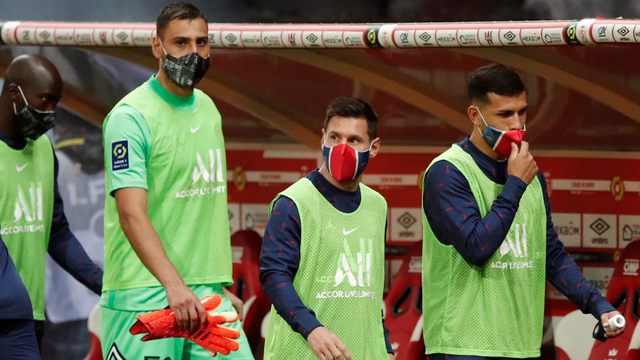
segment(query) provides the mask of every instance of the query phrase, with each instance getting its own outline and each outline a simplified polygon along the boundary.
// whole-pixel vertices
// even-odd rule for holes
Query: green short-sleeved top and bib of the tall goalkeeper
[[[149,219],[187,285],[231,284],[226,159],[215,105],[197,89],[191,98],[170,94],[152,77],[114,107],[105,131],[121,107],[142,116],[148,151],[142,163],[136,162],[131,155],[137,145],[105,134],[107,193],[123,187],[147,190]],[[159,285],[124,235],[115,199],[107,196],[103,290]]]

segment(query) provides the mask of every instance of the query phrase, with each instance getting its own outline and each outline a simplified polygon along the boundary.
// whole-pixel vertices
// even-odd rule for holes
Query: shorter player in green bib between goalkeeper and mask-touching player
[[[338,98],[324,163],[271,203],[260,281],[273,303],[265,360],[394,359],[382,321],[386,200],[361,183],[378,154],[378,116]]]

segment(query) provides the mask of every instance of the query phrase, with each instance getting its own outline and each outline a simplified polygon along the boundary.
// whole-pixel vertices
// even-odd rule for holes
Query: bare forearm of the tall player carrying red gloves
[[[183,283],[146,214],[121,211],[120,225],[142,264],[164,288]]]

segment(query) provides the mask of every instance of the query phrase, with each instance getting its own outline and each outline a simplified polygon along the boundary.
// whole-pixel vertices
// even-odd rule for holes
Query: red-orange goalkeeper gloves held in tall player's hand
[[[207,325],[193,332],[187,333],[178,326],[176,316],[171,309],[152,311],[137,316],[135,324],[129,329],[133,335],[147,334],[141,340],[155,340],[169,337],[182,337],[202,346],[211,356],[216,353],[228,355],[231,351],[240,348],[238,342],[232,340],[240,337],[240,331],[221,326],[224,323],[232,323],[238,320],[238,314],[234,312],[215,312],[222,298],[220,295],[206,296],[200,300],[207,311]]]

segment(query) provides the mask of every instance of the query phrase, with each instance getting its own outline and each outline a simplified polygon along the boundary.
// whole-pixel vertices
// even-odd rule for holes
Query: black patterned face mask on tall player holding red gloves
[[[164,72],[180,87],[193,88],[209,70],[209,56],[204,58],[197,52],[173,56],[167,54],[162,41],[160,41],[160,46],[166,55],[166,59],[162,62]]]

